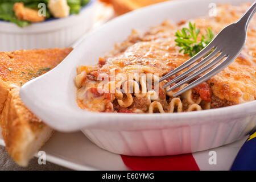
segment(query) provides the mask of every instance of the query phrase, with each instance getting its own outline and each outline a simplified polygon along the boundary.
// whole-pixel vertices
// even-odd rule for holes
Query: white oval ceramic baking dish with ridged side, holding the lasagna
[[[53,129],[82,130],[92,142],[117,154],[175,155],[234,142],[256,129],[256,101],[164,114],[92,113],[76,104],[73,79],[78,65],[97,63],[98,57],[125,40],[133,28],[146,30],[164,19],[196,18],[207,14],[212,2],[241,3],[240,0],[172,1],[123,15],[92,32],[55,69],[23,85],[20,97]]]

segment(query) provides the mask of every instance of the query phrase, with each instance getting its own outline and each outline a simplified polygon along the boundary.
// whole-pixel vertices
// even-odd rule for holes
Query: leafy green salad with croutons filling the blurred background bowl
[[[51,18],[79,14],[90,0],[1,0],[0,19],[19,27]]]

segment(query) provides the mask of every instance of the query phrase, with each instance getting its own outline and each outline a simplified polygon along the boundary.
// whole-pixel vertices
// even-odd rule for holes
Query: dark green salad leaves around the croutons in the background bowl
[[[24,7],[32,10],[39,10],[39,3],[46,4],[46,19],[54,18],[49,10],[48,3],[51,0],[0,0],[0,20],[15,23],[19,27],[28,26],[31,21],[24,20],[15,15],[14,4],[23,3]],[[89,3],[90,0],[65,0],[69,6],[69,14],[79,14],[81,7]]]

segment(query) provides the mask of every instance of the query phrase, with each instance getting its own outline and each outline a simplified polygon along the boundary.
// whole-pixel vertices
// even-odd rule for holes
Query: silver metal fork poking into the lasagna
[[[174,97],[176,97],[186,92],[187,90],[192,89],[195,86],[201,84],[202,82],[208,80],[210,77],[222,71],[222,69],[228,67],[228,65],[232,63],[237,58],[238,55],[240,55],[240,52],[242,51],[243,46],[245,46],[249,22],[253,17],[255,11],[256,11],[256,1],[254,1],[253,5],[250,6],[250,8],[246,11],[246,13],[243,14],[243,16],[237,22],[232,23],[229,26],[226,26],[225,28],[223,28],[218,33],[218,35],[212,40],[212,42],[208,44],[207,47],[202,49],[199,53],[191,57],[191,59],[181,64],[179,67],[177,67],[173,71],[167,73],[167,75],[160,78],[159,82],[166,80],[171,76],[174,76],[176,73],[179,73],[183,69],[189,67],[189,65],[195,63],[196,61],[198,61],[199,59],[201,59],[202,57],[204,57],[209,53],[209,55],[207,55],[199,63],[189,68],[187,71],[177,76],[173,80],[167,82],[163,86],[163,88],[166,88],[167,86],[170,86],[171,84],[174,84],[177,81],[181,80],[180,82],[177,82],[177,84],[169,88],[167,92],[174,90],[176,88],[179,88],[179,86],[191,80],[194,80],[197,76],[200,76],[202,73],[207,72],[210,68],[213,68],[215,65],[217,65],[218,63],[220,63],[222,60],[225,59],[220,64],[218,64],[215,68],[205,73],[205,75],[201,76],[197,80],[191,82],[191,84],[179,90],[179,92],[175,93]],[[214,57],[216,58],[213,59]],[[208,61],[210,62],[208,63]],[[203,65],[204,67],[201,68]]]

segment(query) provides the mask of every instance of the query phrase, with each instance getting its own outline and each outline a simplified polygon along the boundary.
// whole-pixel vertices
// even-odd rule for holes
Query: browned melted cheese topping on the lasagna
[[[197,18],[190,21],[195,22],[196,27],[200,28],[200,34],[205,34],[207,28],[211,27],[214,34],[217,35],[226,25],[239,19],[249,6],[249,4],[241,6],[221,5],[218,7],[216,17]],[[90,67],[90,72],[86,71],[86,73],[93,76],[105,74],[107,77],[110,77],[110,72],[113,71],[116,75],[118,73],[125,75],[129,73],[158,73],[159,77],[162,77],[190,58],[188,55],[179,53],[179,47],[175,46],[175,32],[181,30],[182,27],[188,27],[188,22],[184,20],[173,24],[166,20],[160,26],[152,27],[147,32],[134,30],[125,42],[116,44],[115,49],[105,56],[106,63],[99,63],[93,69]],[[241,55],[229,67],[207,81],[214,100],[216,101],[215,98],[217,98],[216,107],[240,104],[253,101],[256,98],[255,17],[251,20],[247,35],[246,46]],[[88,68],[84,67],[85,69]],[[86,81],[81,82],[81,86],[89,88],[91,85],[100,84],[100,82],[102,81],[86,79]],[[98,100],[103,103],[99,98]],[[92,109],[94,105],[98,105],[94,103],[97,101],[90,100],[90,104],[88,101],[84,101],[84,104],[90,110],[97,110]],[[225,104],[223,104],[224,102]],[[163,111],[159,104],[156,106],[158,106],[159,111]],[[98,111],[102,110],[101,108]]]

